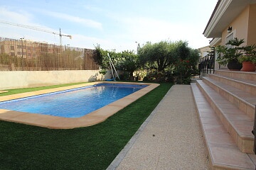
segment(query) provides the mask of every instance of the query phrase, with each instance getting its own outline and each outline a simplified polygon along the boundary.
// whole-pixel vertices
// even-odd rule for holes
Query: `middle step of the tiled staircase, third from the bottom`
[[[228,84],[224,84],[210,77],[202,77],[203,81],[213,88],[218,94],[225,97],[230,103],[235,104],[244,111],[252,120],[255,117],[256,96]]]

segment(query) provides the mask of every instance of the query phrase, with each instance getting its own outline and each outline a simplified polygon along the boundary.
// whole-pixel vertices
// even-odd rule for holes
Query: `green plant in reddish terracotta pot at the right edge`
[[[256,63],[256,46],[248,45],[243,47],[245,51],[244,54],[239,58],[239,62],[242,63],[243,72],[255,72],[255,63]]]

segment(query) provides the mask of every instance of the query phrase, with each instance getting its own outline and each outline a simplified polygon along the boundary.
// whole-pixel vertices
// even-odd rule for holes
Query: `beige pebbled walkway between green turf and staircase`
[[[210,169],[191,86],[172,86],[108,169]]]

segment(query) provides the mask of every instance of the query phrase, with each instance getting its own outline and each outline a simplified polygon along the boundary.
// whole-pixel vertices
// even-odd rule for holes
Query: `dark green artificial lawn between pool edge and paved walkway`
[[[105,122],[51,130],[0,121],[0,169],[107,169],[172,84],[161,84]]]

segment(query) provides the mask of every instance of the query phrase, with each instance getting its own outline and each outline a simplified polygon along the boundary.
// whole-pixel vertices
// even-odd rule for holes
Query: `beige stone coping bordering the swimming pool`
[[[15,123],[23,123],[26,125],[35,125],[43,128],[50,129],[73,129],[80,127],[87,127],[91,125],[96,125],[98,123],[102,123],[110,116],[114,115],[118,111],[122,110],[129,104],[137,101],[137,99],[141,98],[145,94],[152,91],[160,84],[150,84],[150,83],[135,83],[135,82],[118,82],[118,81],[97,81],[85,84],[78,84],[73,86],[64,86],[53,89],[46,89],[40,91],[31,91],[22,94],[12,94],[8,96],[0,96],[0,101],[9,101],[16,98],[24,98],[28,96],[36,96],[40,94],[48,94],[56,91],[64,91],[68,89],[75,89],[83,86],[92,86],[95,84],[143,84],[148,85],[139,91],[134,92],[133,94],[129,94],[124,98],[121,98],[117,101],[114,101],[107,106],[97,109],[87,115],[83,115],[80,118],[63,118],[53,115],[41,115],[36,113],[26,113],[19,111],[11,111],[6,109],[0,109],[0,120],[15,122]]]

